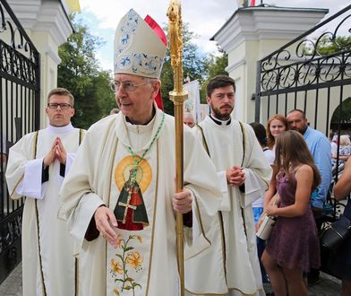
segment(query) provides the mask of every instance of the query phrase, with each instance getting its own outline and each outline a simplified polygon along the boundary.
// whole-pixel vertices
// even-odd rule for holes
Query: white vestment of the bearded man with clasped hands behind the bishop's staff
[[[244,145],[240,124],[233,118],[220,126],[206,117],[200,126],[220,179],[221,228],[211,232],[214,243],[209,249],[186,262],[185,273],[192,275],[185,277],[185,288],[194,294],[264,295],[251,205],[268,188],[270,165],[251,126],[243,124]],[[201,136],[200,129],[198,133]],[[244,168],[244,193],[227,185],[226,170],[234,165]]]

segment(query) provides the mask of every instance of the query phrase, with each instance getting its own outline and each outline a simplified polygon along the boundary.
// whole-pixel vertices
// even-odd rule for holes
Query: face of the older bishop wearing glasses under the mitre
[[[133,124],[145,125],[152,118],[153,100],[160,82],[131,74],[115,74],[116,102]],[[130,87],[131,85],[134,87]]]

